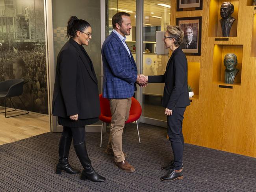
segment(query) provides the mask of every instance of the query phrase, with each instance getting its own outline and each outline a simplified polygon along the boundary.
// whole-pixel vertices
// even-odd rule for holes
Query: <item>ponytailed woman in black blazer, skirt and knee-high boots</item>
[[[73,137],[76,155],[84,168],[81,179],[100,182],[105,181],[105,178],[93,169],[85,145],[85,125],[97,122],[100,115],[96,74],[93,63],[82,46],[89,44],[91,31],[87,21],[70,17],[67,37],[71,38],[57,57],[52,114],[58,116],[58,123],[63,126],[56,174],[60,174],[61,170],[70,174],[79,173],[68,161]]]

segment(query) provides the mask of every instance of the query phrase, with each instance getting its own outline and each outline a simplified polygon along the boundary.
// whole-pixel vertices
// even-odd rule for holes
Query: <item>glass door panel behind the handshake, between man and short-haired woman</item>
[[[143,50],[142,73],[162,75],[169,60],[166,54],[156,53],[156,33],[165,31],[170,24],[170,0],[143,1]],[[159,33],[158,33],[159,34]],[[161,33],[160,33],[161,34]],[[163,35],[162,35],[163,36]],[[160,42],[162,38],[160,37]],[[150,83],[142,89],[141,122],[166,126],[165,109],[161,106],[164,83]]]

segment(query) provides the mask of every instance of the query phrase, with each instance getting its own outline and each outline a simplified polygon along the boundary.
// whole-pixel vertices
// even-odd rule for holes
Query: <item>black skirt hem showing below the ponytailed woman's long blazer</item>
[[[94,124],[99,120],[98,117],[90,119],[78,119],[77,121],[71,120],[70,118],[58,117],[58,123],[65,127],[84,127],[90,124]]]

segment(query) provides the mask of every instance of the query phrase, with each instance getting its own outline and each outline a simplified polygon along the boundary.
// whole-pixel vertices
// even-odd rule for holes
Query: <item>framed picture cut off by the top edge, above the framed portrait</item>
[[[203,0],[177,0],[177,11],[202,10]]]

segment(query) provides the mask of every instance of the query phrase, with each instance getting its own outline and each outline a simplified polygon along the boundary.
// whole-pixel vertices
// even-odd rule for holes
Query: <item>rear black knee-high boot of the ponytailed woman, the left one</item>
[[[64,137],[61,135],[59,140],[59,163],[56,166],[56,174],[61,174],[61,171],[64,170],[69,174],[78,174],[79,170],[73,169],[69,164],[69,149],[72,142],[72,138]]]

